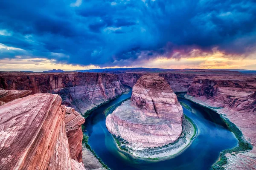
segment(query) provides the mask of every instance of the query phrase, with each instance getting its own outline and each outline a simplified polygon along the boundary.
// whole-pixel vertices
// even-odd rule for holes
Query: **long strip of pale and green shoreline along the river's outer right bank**
[[[237,154],[242,154],[242,156],[239,155],[239,157],[240,157],[239,159],[241,162],[247,162],[248,164],[252,164],[252,166],[253,166],[253,162],[250,162],[250,161],[248,162],[245,160],[246,158],[247,159],[255,159],[256,158],[255,154],[248,153],[248,151],[253,149],[253,146],[252,146],[252,144],[250,144],[250,142],[248,142],[245,139],[245,137],[244,137],[243,133],[241,132],[241,130],[239,129],[239,127],[237,127],[233,122],[231,122],[230,119],[228,118],[228,116],[226,114],[224,114],[224,112],[223,112],[224,108],[210,107],[207,104],[205,104],[204,102],[201,102],[200,100],[195,99],[194,97],[189,96],[187,94],[179,94],[178,96],[218,113],[220,115],[221,119],[223,119],[223,121],[226,123],[229,130],[234,133],[234,135],[236,136],[236,138],[239,141],[239,146],[234,147],[232,149],[223,150],[220,153],[218,160],[215,162],[215,164],[212,165],[213,170],[224,170],[224,169],[235,168],[235,164],[238,159],[238,156],[236,156]]]

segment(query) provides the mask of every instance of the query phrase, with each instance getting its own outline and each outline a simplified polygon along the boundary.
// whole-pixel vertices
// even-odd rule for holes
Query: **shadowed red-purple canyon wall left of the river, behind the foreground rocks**
[[[63,105],[82,114],[127,90],[115,74],[77,72],[1,73],[0,88],[59,94]]]

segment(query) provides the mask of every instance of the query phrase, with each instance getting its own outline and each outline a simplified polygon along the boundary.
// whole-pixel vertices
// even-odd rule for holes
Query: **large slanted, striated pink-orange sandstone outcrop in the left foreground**
[[[0,106],[1,170],[84,170],[71,159],[65,109],[55,94],[35,94]]]

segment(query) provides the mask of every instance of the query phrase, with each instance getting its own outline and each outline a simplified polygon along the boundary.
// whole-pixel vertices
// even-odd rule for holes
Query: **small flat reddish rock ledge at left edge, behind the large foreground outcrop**
[[[21,97],[26,97],[29,94],[31,94],[32,91],[25,90],[25,91],[17,91],[17,90],[1,90],[0,89],[0,102],[1,103],[7,103],[11,102],[12,100],[19,99]]]

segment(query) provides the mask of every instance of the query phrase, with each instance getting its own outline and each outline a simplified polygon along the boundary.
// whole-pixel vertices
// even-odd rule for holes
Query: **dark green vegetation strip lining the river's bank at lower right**
[[[235,134],[236,138],[239,141],[238,142],[239,146],[233,149],[227,149],[222,151],[220,154],[220,160],[212,165],[213,170],[224,170],[223,165],[227,164],[227,157],[225,156],[226,153],[233,154],[233,153],[239,153],[239,152],[246,152],[248,150],[253,149],[253,146],[249,142],[243,139],[243,133],[241,132],[241,130],[239,130],[239,128],[235,124],[230,122],[229,119],[223,117],[222,115],[221,115],[221,118],[227,124],[227,127],[229,128],[229,130]]]

